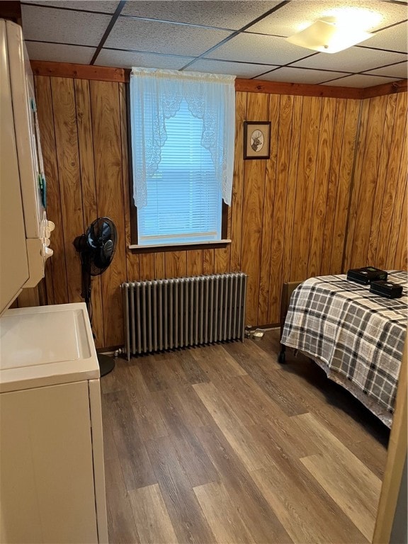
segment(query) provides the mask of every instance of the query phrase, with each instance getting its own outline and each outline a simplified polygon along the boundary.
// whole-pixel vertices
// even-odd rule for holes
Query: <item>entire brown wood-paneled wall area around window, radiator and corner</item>
[[[74,238],[102,215],[118,227],[113,263],[92,281],[96,346],[123,344],[125,280],[242,270],[246,322],[256,325],[278,322],[283,281],[368,263],[407,267],[407,93],[360,101],[237,92],[232,244],[137,254],[127,249],[125,84],[45,76],[35,84],[56,224],[49,304],[81,300]],[[244,161],[244,120],[271,120],[270,159]]]

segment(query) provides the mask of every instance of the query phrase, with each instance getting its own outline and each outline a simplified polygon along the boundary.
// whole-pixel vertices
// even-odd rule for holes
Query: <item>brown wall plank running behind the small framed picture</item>
[[[268,96],[249,93],[246,97],[246,120],[268,120]],[[263,193],[266,159],[246,160],[244,166],[244,198],[242,208],[242,271],[248,274],[246,318],[257,322],[259,274],[261,263]]]

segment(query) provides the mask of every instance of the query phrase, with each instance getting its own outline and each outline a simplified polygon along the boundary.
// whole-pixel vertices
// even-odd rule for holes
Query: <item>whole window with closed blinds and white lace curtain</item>
[[[234,161],[234,77],[132,69],[137,246],[222,240]]]

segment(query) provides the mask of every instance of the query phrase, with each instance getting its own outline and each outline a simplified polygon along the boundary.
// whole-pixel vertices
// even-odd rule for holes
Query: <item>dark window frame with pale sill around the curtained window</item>
[[[137,251],[137,253],[158,253],[161,251],[182,251],[188,249],[214,249],[215,247],[226,247],[231,244],[232,240],[228,239],[228,208],[222,200],[221,208],[221,239],[210,240],[209,242],[183,242],[181,244],[152,244],[139,245],[139,237],[137,232],[137,208],[133,200],[133,157],[132,157],[132,125],[130,120],[130,83],[126,83],[126,111],[128,121],[128,182],[129,182],[129,208],[130,208],[130,245],[128,249]]]

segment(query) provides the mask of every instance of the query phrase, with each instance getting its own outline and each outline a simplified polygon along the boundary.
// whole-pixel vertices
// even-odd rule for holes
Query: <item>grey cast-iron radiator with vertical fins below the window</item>
[[[244,339],[242,272],[122,283],[125,352]]]

